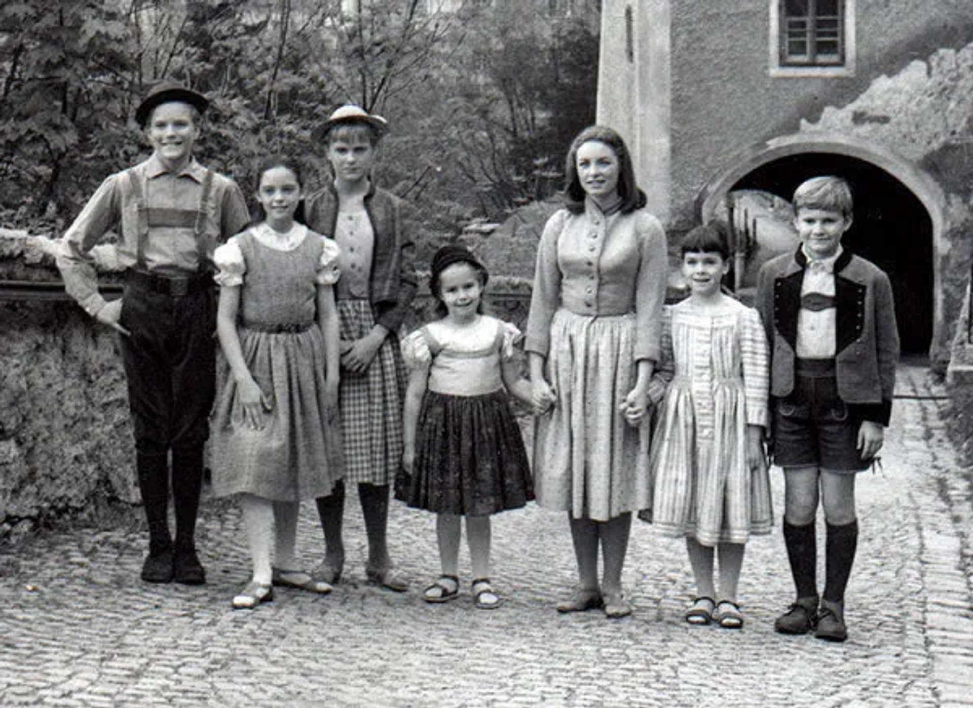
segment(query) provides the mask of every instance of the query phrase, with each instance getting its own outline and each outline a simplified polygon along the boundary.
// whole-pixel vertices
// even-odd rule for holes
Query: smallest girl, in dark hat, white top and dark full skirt
[[[435,512],[442,574],[426,602],[447,602],[459,591],[460,520],[473,572],[476,607],[502,600],[489,580],[489,514],[520,509],[533,499],[521,430],[507,392],[530,404],[530,386],[514,360],[521,333],[482,314],[486,268],[466,248],[448,245],[433,256],[429,290],[443,318],[406,337],[410,368],[403,414],[403,467],[410,474],[410,507]]]

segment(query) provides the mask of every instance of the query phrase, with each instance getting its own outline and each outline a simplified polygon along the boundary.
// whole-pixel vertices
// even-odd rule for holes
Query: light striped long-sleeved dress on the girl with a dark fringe
[[[771,531],[766,466],[746,463],[746,426],[769,422],[767,341],[757,311],[738,301],[717,313],[691,301],[666,307],[656,390],[669,378],[653,435],[652,512],[667,536],[703,546],[742,544]]]

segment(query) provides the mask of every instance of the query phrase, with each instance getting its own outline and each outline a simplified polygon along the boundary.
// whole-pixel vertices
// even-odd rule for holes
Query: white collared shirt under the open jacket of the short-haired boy
[[[835,262],[842,255],[841,246],[834,256],[808,259],[801,283],[801,308],[797,315],[797,346],[799,359],[834,359],[838,310],[835,306]]]

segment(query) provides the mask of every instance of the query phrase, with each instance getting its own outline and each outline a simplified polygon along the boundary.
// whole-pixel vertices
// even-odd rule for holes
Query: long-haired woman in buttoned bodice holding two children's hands
[[[648,390],[660,355],[666,234],[645,208],[622,137],[585,128],[567,203],[537,251],[524,348],[538,418],[534,493],[567,512],[579,584],[559,612],[631,614],[622,570],[631,513],[652,506]],[[598,547],[603,573],[598,580]]]

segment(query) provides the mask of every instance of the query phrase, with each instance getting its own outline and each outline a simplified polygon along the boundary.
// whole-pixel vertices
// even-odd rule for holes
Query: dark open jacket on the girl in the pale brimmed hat
[[[402,200],[373,183],[365,195],[365,211],[375,231],[372,252],[370,301],[376,323],[390,333],[399,328],[415,298],[415,244],[402,220]],[[307,226],[328,238],[335,237],[338,223],[338,193],[334,185],[318,190],[306,199]]]

